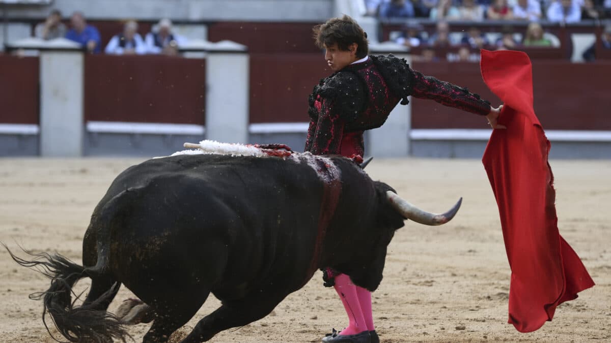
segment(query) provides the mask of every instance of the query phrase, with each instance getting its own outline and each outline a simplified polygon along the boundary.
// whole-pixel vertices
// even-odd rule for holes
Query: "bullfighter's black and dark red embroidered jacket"
[[[369,56],[324,78],[309,98],[310,126],[305,151],[364,156],[363,132],[379,128],[408,96],[486,115],[490,103],[467,88],[424,76],[395,56]]]

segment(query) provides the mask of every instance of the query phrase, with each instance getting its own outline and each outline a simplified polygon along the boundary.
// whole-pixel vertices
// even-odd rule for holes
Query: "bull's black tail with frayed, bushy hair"
[[[119,283],[115,283],[100,297],[89,303],[83,303],[82,306],[75,307],[74,302],[71,301],[72,287],[76,281],[84,277],[95,280],[96,276],[101,275],[100,267],[82,267],[59,254],[49,255],[48,253],[26,251],[33,257],[28,261],[13,255],[6,245],[4,248],[18,264],[35,269],[51,279],[51,287],[46,292],[30,295],[30,298],[34,300],[43,299],[45,307],[43,322],[47,330],[49,327],[45,322],[46,312],[51,316],[57,330],[70,342],[112,342],[115,339],[125,342],[125,338],[129,337],[117,317],[106,312],[106,306],[100,306],[101,303],[108,304],[114,298],[120,286]],[[75,296],[79,298],[78,295],[75,294]],[[50,331],[49,334],[51,334]],[[53,337],[52,334],[51,336]]]

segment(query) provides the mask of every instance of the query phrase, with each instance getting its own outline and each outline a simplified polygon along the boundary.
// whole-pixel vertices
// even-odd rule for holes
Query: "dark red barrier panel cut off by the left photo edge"
[[[38,124],[38,57],[0,56],[0,123]]]

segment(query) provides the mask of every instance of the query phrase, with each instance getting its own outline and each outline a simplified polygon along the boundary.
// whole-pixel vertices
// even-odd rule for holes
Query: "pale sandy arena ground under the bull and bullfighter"
[[[81,264],[82,236],[95,204],[120,171],[140,161],[0,159],[0,241],[16,252],[18,244],[33,251],[58,251]],[[393,239],[384,280],[374,293],[382,342],[611,341],[611,161],[551,165],[560,233],[597,286],[559,306],[553,322],[529,334],[507,324],[510,269],[481,162],[376,159],[367,167],[372,178],[432,212],[445,211],[464,197],[463,207],[447,225],[408,222]],[[48,285],[42,275],[18,266],[0,250],[1,342],[54,342],[43,327],[42,303],[27,298]],[[81,280],[76,291],[88,285]],[[122,287],[110,310],[130,295]],[[172,342],[217,306],[211,296]],[[317,272],[268,317],[224,331],[212,342],[319,342],[332,327],[340,330],[346,323],[335,292],[322,286]],[[130,333],[141,341],[148,327],[136,325]]]

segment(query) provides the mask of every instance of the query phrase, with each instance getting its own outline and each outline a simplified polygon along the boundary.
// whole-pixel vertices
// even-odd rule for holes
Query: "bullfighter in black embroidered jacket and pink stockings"
[[[466,88],[424,76],[392,55],[368,56],[367,34],[349,16],[332,18],[313,31],[334,73],[310,95],[305,151],[363,156],[363,132],[382,126],[390,110],[399,101],[408,104],[410,95],[485,116],[492,128],[502,128],[497,125],[500,107],[491,107]],[[324,269],[323,279],[340,295],[349,322],[340,333],[327,334],[323,342],[379,342],[371,312],[373,289],[356,286],[341,270]]]

